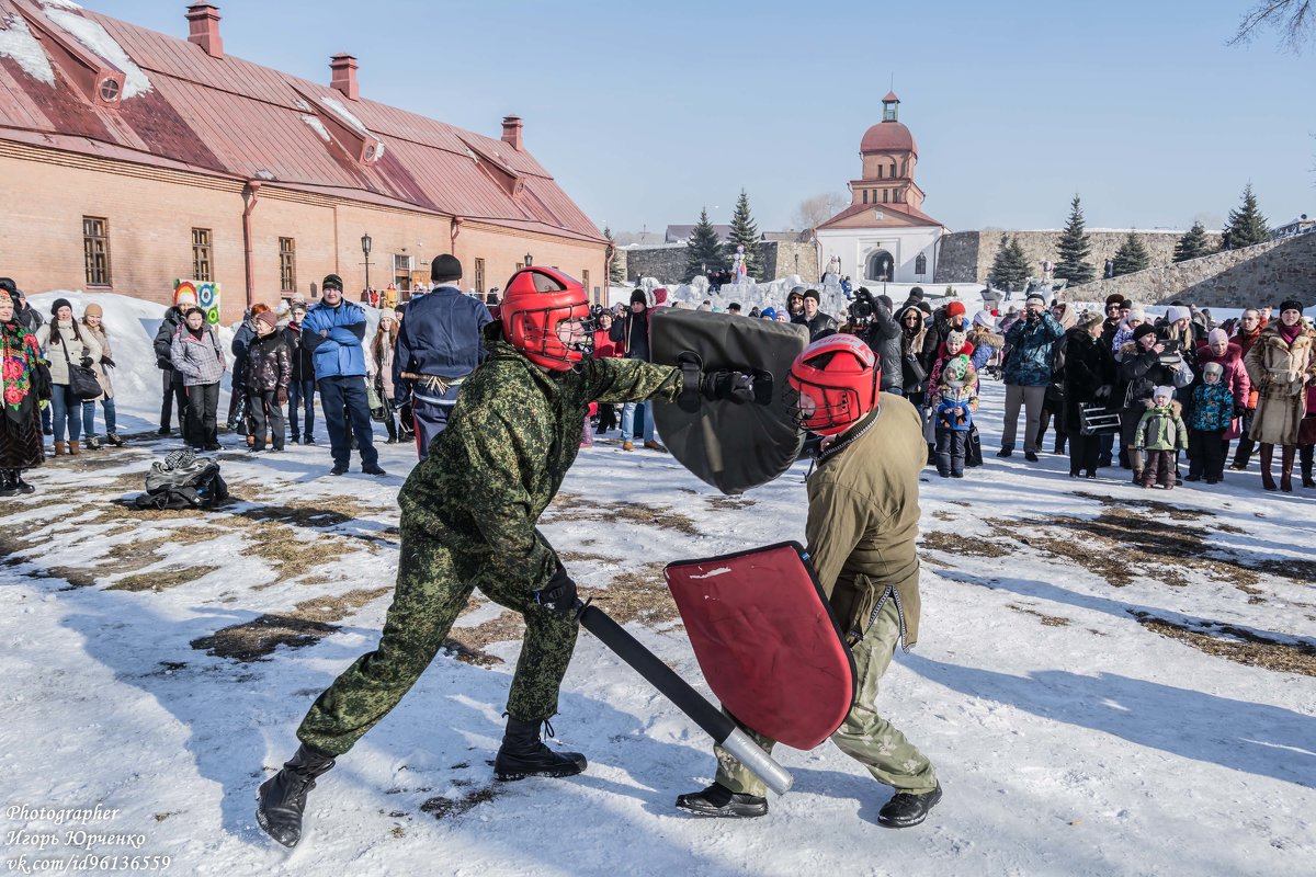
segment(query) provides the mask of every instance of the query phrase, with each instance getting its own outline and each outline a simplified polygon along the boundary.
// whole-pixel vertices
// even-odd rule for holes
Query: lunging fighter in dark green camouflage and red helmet
[[[316,777],[401,701],[475,588],[525,618],[494,776],[584,770],[583,755],[554,752],[540,738],[558,710],[578,601],[534,525],[576,458],[590,402],[674,401],[683,391],[676,368],[591,359],[588,318],[584,288],[565,273],[533,267],[508,281],[501,321],[484,327],[488,358],[399,494],[397,585],[379,646],[316,698],[297,728],[297,753],[261,786],[257,818],[279,843],[296,845]],[[719,372],[694,389],[744,401],[746,381]]]

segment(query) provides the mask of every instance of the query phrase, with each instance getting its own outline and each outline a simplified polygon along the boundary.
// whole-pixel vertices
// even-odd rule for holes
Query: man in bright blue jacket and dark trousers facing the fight
[[[329,444],[333,450],[330,475],[345,475],[351,462],[347,418],[361,450],[361,471],[387,475],[379,468],[366,401],[366,312],[343,301],[342,277],[332,273],[320,284],[321,301],[301,321],[301,344],[311,351],[316,367],[316,388],[325,412]]]

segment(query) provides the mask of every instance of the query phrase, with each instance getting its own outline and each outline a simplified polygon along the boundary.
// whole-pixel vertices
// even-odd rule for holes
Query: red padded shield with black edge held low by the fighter
[[[795,542],[663,569],[708,686],[742,724],[796,749],[841,727],[854,657]]]

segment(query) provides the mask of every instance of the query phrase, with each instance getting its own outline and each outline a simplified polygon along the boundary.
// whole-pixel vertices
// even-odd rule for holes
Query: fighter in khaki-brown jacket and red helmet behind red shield
[[[917,410],[879,393],[876,356],[854,335],[813,342],[791,367],[800,425],[822,437],[808,479],[808,554],[854,655],[857,689],[832,735],[842,752],[896,794],[878,823],[907,828],[941,799],[932,763],[876,711],[878,682],[898,642],[919,639],[919,472],[928,446]],[[772,740],[747,734],[771,751]],[[717,749],[717,777],[676,806],[708,817],[762,817],[765,786],[730,753]]]

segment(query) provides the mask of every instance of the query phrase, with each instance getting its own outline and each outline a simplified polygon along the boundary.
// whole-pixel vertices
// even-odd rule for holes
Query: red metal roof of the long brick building
[[[150,87],[132,96],[125,89],[116,107],[93,103],[66,79],[42,41],[38,51],[57,72],[54,85],[25,72],[24,66],[39,67],[36,55],[29,53],[25,64],[0,55],[0,138],[603,241],[534,156],[501,139],[387,104],[353,101],[325,84],[233,55],[212,58],[186,39],[89,11],[0,0],[0,28],[21,26],[20,8],[42,16],[41,26],[58,28],[61,37],[67,34],[63,16],[99,24],[109,41],[79,45],[114,67],[107,55],[117,43]],[[334,103],[353,118],[336,112]],[[375,162],[349,156],[307,117],[328,129],[359,122],[384,153]]]

